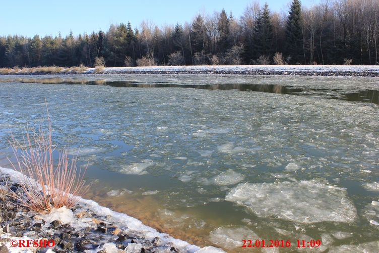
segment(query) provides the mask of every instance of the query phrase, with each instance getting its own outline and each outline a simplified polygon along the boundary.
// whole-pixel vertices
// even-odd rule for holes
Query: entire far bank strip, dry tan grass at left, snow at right
[[[366,76],[379,77],[379,65],[202,65],[148,67],[33,67],[0,68],[0,75],[73,74],[214,74],[289,76]]]

